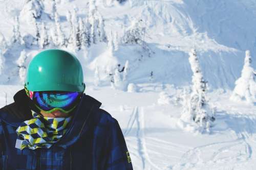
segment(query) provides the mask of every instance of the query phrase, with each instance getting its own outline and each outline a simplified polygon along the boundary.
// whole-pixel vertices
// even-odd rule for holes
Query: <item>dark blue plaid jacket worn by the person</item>
[[[57,143],[50,149],[22,151],[15,148],[15,130],[24,119],[10,114],[18,111],[12,104],[0,109],[0,169],[133,169],[117,120],[99,109],[100,105],[83,94],[68,131]],[[11,107],[11,111],[6,107]]]

